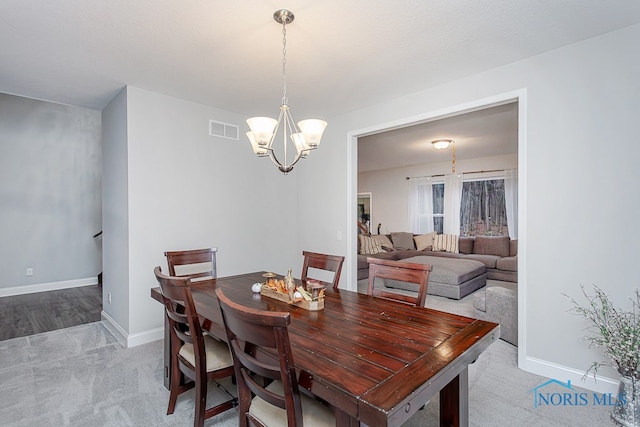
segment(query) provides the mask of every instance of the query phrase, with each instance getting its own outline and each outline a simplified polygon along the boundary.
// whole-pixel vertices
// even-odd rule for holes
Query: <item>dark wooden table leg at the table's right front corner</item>
[[[440,390],[440,426],[469,425],[469,368]]]

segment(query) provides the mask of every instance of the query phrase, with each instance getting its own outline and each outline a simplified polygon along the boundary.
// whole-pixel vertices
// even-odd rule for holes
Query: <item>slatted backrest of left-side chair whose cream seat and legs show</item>
[[[165,313],[169,321],[172,353],[178,353],[183,343],[193,345],[196,366],[195,370],[206,375],[206,359],[202,327],[191,296],[191,279],[188,277],[171,277],[162,273],[160,266],[153,272],[162,290]]]

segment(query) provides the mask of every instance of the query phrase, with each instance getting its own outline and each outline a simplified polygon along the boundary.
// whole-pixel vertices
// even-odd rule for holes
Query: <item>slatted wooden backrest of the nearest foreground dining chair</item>
[[[240,410],[251,416],[248,407],[253,393],[271,405],[285,409],[290,427],[302,425],[300,391],[287,329],[290,314],[242,306],[227,298],[221,288],[216,289],[216,296],[233,356]],[[264,357],[265,353],[273,355],[273,359]],[[260,355],[263,357],[258,359]],[[256,380],[256,375],[281,381],[284,396],[267,390]]]

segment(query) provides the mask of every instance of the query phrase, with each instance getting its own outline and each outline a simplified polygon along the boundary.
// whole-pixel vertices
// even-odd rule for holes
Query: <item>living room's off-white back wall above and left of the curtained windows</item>
[[[516,154],[456,161],[456,171],[459,173],[517,167],[518,156]],[[382,234],[411,231],[409,230],[409,181],[406,180],[406,177],[449,173],[451,173],[451,162],[359,173],[358,193],[372,194],[371,232],[377,232],[378,224],[382,224],[380,227]]]

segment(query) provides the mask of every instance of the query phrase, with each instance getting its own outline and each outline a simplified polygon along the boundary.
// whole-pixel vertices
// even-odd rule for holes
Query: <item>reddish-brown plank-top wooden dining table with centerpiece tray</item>
[[[226,340],[216,288],[247,307],[289,311],[299,386],[335,408],[336,425],[399,426],[437,393],[440,425],[468,425],[468,366],[499,338],[498,324],[330,287],[324,309],[307,311],[253,293],[263,273],[191,285],[209,333]],[[162,302],[159,287],[151,296]],[[165,340],[165,373],[167,351]]]

